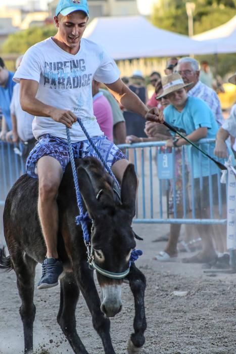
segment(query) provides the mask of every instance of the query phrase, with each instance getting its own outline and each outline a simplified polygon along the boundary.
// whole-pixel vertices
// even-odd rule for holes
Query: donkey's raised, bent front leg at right
[[[145,343],[144,332],[147,328],[144,305],[146,278],[132,263],[126,279],[129,281],[135,304],[134,333],[131,334],[128,340],[127,351],[128,354],[139,354]]]

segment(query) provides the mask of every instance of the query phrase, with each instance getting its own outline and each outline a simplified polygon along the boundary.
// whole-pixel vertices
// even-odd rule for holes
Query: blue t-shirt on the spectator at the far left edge
[[[3,115],[9,130],[12,130],[12,120],[10,113],[10,104],[12,100],[13,87],[16,82],[12,80],[14,73],[8,71],[8,81],[6,86],[0,86],[0,107],[2,108]]]

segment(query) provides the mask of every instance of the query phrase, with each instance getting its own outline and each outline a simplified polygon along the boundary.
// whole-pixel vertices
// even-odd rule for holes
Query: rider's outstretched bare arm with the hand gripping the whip
[[[148,107],[124,84],[121,79],[105,85],[117,101],[128,111],[139,114],[147,120],[162,123],[164,118],[157,107],[149,111]]]

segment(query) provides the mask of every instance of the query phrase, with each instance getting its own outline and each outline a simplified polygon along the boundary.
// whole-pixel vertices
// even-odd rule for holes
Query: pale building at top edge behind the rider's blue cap
[[[54,16],[58,0],[49,3],[49,12]],[[136,0],[89,0],[89,19],[101,16],[138,15]]]

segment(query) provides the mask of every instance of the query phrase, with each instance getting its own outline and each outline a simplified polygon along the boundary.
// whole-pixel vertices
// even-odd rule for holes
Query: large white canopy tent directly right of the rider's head
[[[115,60],[205,54],[205,43],[159,29],[142,16],[101,17],[84,37],[99,43]]]

